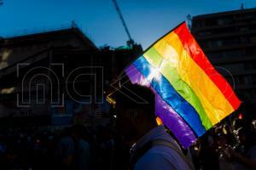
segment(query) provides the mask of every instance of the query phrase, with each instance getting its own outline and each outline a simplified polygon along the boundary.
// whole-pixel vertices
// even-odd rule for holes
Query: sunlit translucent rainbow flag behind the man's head
[[[154,42],[125,73],[132,83],[153,90],[156,116],[184,148],[241,104],[185,22]]]

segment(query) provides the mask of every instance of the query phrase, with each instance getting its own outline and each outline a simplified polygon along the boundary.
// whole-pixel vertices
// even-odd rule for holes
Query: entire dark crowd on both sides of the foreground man
[[[255,125],[243,119],[218,124],[183,152],[195,169],[256,169]],[[0,169],[127,169],[129,151],[109,124],[0,130]]]

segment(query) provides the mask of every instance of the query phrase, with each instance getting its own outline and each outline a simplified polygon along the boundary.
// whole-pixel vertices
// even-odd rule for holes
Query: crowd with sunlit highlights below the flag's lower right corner
[[[190,148],[195,169],[256,169],[255,122],[235,118],[213,127]]]

